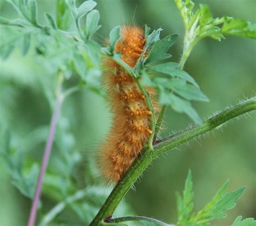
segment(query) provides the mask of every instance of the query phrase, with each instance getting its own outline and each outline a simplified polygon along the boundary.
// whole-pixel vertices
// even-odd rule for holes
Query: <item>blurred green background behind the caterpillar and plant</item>
[[[79,2],[79,1],[77,1]],[[80,1],[82,2],[82,1]],[[96,40],[104,42],[112,27],[120,24],[162,27],[164,37],[180,33],[177,43],[171,47],[172,61],[178,61],[182,51],[183,24],[172,0],[96,0],[102,29]],[[256,23],[255,0],[194,1],[210,5],[214,17],[228,15]],[[54,0],[40,0],[39,16],[44,23],[43,12],[55,12]],[[16,18],[11,6],[0,0],[0,16]],[[1,37],[0,37],[1,41]],[[0,62],[0,125],[8,128],[20,144],[33,139],[31,133],[38,126],[48,126],[51,110],[41,82],[54,81],[43,66],[35,63],[33,54],[25,58],[19,51]],[[209,103],[193,103],[203,118],[207,118],[227,105],[255,95],[256,88],[255,40],[226,37],[221,42],[204,39],[193,50],[185,70],[198,82],[201,90],[210,98]],[[89,163],[97,145],[104,139],[111,120],[103,98],[91,91],[80,91],[63,104],[64,124],[74,138],[76,150]],[[162,136],[185,129],[192,122],[183,115],[168,109]],[[43,133],[46,136],[46,133]],[[44,139],[40,145],[23,146],[27,156],[40,161]],[[126,195],[132,213],[155,217],[169,223],[177,222],[175,192],[184,187],[189,168],[194,182],[195,210],[203,207],[217,189],[230,178],[230,190],[246,185],[247,189],[237,207],[228,211],[228,217],[216,221],[217,225],[229,225],[235,217],[256,217],[256,117],[241,117],[206,137],[194,140],[177,150],[155,160],[142,178]],[[53,155],[57,155],[54,153]],[[79,164],[79,163],[78,163]],[[93,167],[93,166],[92,166]],[[93,171],[93,170],[92,170]],[[86,177],[86,172],[81,172]],[[35,178],[36,180],[36,178]],[[92,181],[93,183],[93,181]],[[26,225],[31,201],[12,186],[10,175],[0,165],[0,225]],[[48,203],[49,208],[51,202]],[[220,223],[221,222],[221,223]]]

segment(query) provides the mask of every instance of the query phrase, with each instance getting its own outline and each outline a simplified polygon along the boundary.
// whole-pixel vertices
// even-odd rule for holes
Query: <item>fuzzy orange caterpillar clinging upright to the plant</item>
[[[134,67],[145,46],[144,32],[136,26],[123,26],[120,36],[114,51],[121,53],[121,59]],[[109,97],[113,124],[100,147],[99,161],[104,178],[118,182],[152,134],[152,112],[147,109],[145,96],[136,81],[124,68],[107,57],[103,65],[104,87]],[[153,90],[147,88],[147,91],[152,97]],[[154,102],[153,107],[156,107]]]

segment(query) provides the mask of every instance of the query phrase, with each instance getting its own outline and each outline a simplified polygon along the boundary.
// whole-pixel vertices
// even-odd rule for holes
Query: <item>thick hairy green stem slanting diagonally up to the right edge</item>
[[[197,138],[212,131],[213,129],[217,129],[219,126],[230,121],[230,119],[253,110],[256,110],[256,97],[220,112],[218,115],[213,116],[201,125],[193,126],[176,135],[159,140],[156,145],[154,145],[154,151],[147,152],[144,150],[142,154],[134,160],[129,170],[127,170],[122,179],[113,188],[111,194],[107,197],[107,200],[90,225],[99,225],[100,222],[112,216],[113,211],[117,208],[119,202],[123,199],[123,196],[128,192],[133,183],[139,178],[146,167],[152,163],[153,159],[157,158],[161,153],[184,144],[193,138]]]

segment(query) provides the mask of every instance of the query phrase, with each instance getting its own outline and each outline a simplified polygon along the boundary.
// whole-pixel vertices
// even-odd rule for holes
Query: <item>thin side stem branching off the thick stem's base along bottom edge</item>
[[[120,222],[126,222],[126,221],[149,221],[149,222],[153,222],[155,224],[163,225],[163,226],[175,226],[174,224],[166,224],[154,218],[144,217],[144,216],[124,216],[124,217],[110,218],[105,220],[106,223],[120,223]]]

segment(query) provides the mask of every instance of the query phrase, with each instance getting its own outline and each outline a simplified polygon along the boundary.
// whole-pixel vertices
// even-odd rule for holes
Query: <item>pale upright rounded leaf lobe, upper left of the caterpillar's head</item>
[[[99,11],[92,10],[86,16],[86,25],[85,25],[85,36],[87,39],[90,39],[91,36],[100,29],[99,25]]]

